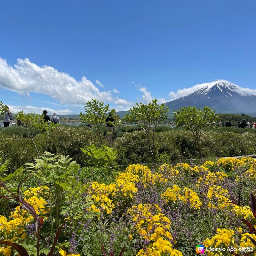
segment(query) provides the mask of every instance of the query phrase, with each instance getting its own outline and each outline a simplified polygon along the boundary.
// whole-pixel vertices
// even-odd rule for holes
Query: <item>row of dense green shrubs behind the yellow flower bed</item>
[[[19,130],[20,129],[20,130]],[[241,130],[241,129],[240,129]],[[211,130],[202,132],[201,146],[204,157],[224,157],[249,155],[256,153],[256,133],[242,129],[238,132]],[[197,158],[197,146],[193,134],[184,128],[157,132],[155,135],[158,154],[166,152],[172,161]],[[41,134],[34,137],[40,154],[46,148]],[[91,144],[97,145],[94,133],[84,127],[64,127],[55,129],[48,141],[47,151],[54,154],[69,155],[82,166],[86,165],[86,156],[80,148]],[[147,138],[143,131],[120,132],[113,144],[118,152],[118,163],[134,164],[148,163],[151,158]],[[0,130],[0,155],[12,159],[12,169],[26,162],[31,162],[37,156],[29,138],[25,136],[22,127],[9,127]]]

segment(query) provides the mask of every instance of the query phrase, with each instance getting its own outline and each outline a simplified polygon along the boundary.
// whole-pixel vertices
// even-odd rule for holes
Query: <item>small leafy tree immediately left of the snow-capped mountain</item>
[[[130,108],[130,114],[125,115],[125,121],[128,123],[138,125],[142,130],[146,132],[148,140],[148,148],[150,154],[156,159],[156,145],[155,145],[155,131],[160,121],[166,121],[168,107],[162,103],[160,106],[157,104],[157,100],[152,100],[148,105],[136,103],[136,106]],[[152,134],[152,139],[151,135]]]

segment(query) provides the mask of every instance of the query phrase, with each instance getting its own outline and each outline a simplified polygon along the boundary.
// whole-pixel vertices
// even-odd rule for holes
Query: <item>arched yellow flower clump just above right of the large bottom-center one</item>
[[[200,209],[202,203],[197,196],[196,192],[192,191],[189,188],[184,188],[183,193],[180,193],[180,187],[173,185],[170,188],[167,188],[161,196],[165,199],[165,203],[176,202],[180,199],[184,204],[190,203],[191,208]]]

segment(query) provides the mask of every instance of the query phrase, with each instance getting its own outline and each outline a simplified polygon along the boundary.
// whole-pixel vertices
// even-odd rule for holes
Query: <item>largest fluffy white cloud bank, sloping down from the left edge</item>
[[[0,85],[21,95],[29,95],[30,92],[47,94],[61,104],[85,104],[92,98],[107,102],[113,100],[110,91],[100,92],[85,76],[77,81],[67,73],[49,66],[39,67],[29,59],[18,59],[12,67],[0,58]]]

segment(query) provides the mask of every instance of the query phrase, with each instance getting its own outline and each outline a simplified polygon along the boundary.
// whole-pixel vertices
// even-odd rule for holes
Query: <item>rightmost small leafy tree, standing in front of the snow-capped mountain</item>
[[[216,127],[219,116],[215,115],[215,110],[204,107],[203,110],[196,107],[184,107],[173,112],[175,123],[177,126],[187,127],[196,139],[199,155],[202,158],[202,150],[200,146],[201,131],[205,126]]]

